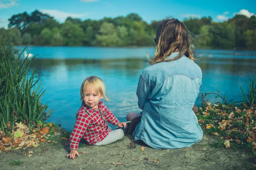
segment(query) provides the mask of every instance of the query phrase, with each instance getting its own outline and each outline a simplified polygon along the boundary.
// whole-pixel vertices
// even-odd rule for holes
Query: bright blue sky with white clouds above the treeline
[[[137,13],[148,23],[175,17],[211,16],[213,21],[223,22],[235,14],[248,17],[256,13],[253,0],[0,0],[0,27],[7,28],[13,14],[35,9],[63,22],[68,16],[81,20],[99,20],[104,17],[126,16]]]

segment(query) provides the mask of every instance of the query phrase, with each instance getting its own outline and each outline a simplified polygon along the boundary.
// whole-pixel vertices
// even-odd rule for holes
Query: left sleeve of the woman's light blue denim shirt
[[[151,86],[145,81],[142,75],[140,75],[139,83],[137,86],[137,97],[138,97],[138,106],[140,109],[144,109],[145,103],[148,100],[148,95],[151,92]]]

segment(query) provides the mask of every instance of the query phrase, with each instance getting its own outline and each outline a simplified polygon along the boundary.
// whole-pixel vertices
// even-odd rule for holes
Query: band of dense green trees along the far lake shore
[[[0,29],[0,44],[51,46],[154,46],[160,21],[150,24],[138,14],[101,20],[68,17],[58,23],[53,17],[35,10],[9,18],[9,29]],[[196,47],[220,49],[256,49],[256,25],[244,15],[223,23],[212,17],[187,18],[183,23],[195,37]]]

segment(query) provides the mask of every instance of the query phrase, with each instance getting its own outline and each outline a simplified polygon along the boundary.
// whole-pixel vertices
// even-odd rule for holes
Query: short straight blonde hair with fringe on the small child
[[[95,92],[97,94],[100,94],[103,96],[103,98],[106,101],[110,101],[109,98],[106,97],[105,95],[105,84],[104,81],[102,81],[101,78],[96,77],[96,76],[89,76],[87,78],[84,79],[82,85],[81,85],[81,89],[80,89],[80,97],[81,100],[83,100],[83,97],[85,95],[86,89],[95,89]]]

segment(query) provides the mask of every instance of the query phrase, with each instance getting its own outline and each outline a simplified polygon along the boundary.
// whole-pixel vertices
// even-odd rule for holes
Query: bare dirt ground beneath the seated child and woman
[[[242,150],[218,147],[216,138],[204,135],[192,147],[156,150],[144,143],[130,147],[131,136],[107,146],[79,146],[79,157],[67,158],[68,141],[38,148],[1,152],[1,170],[253,170],[253,156]],[[144,151],[140,150],[145,147]],[[33,153],[29,156],[29,151]],[[31,153],[31,152],[30,152]],[[26,154],[26,156],[25,156]]]

